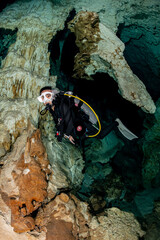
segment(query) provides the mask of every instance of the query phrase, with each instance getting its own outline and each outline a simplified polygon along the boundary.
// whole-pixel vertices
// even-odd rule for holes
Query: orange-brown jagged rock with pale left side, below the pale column
[[[33,131],[33,130],[32,130]],[[49,161],[39,130],[19,137],[11,153],[3,158],[0,174],[1,196],[11,209],[11,225],[15,232],[35,228],[30,216],[47,197]]]

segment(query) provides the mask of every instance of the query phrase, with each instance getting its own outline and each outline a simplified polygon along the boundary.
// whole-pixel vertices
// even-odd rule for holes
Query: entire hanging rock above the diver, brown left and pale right
[[[86,19],[90,19],[87,25]],[[78,59],[75,71],[79,78],[86,78],[87,75],[92,79],[96,72],[106,72],[118,83],[123,98],[145,112],[155,112],[155,104],[145,85],[133,74],[123,56],[124,44],[110,29],[99,23],[98,14],[79,12],[69,23],[69,29],[75,33],[80,49],[80,54],[75,58],[75,61]],[[85,65],[82,67],[83,62]]]

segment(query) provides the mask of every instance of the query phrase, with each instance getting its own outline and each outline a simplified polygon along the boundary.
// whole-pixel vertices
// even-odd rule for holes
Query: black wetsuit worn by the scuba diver
[[[75,105],[74,98],[65,96],[62,92],[56,96],[56,100],[53,100],[53,105],[55,106],[54,111],[51,106],[49,111],[56,124],[58,141],[62,141],[64,134],[71,135],[75,140],[83,140],[88,135],[97,133],[98,130],[89,121],[89,116],[81,109],[81,102],[78,106]],[[117,122],[112,123],[96,137],[104,138],[117,125]],[[78,127],[81,129],[80,131],[77,130]]]

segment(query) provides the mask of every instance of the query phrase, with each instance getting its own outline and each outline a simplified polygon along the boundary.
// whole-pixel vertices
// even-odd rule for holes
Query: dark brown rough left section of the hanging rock
[[[99,16],[96,12],[80,11],[75,18],[69,22],[69,29],[76,35],[76,45],[79,53],[75,56],[74,77],[92,79],[84,69],[90,64],[90,55],[97,48],[100,40]]]

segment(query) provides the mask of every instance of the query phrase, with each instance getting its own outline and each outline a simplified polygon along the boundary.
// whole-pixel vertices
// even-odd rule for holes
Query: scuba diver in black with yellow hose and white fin
[[[102,130],[99,118],[91,106],[70,91],[63,92],[46,86],[40,90],[40,96],[37,99],[46,106],[41,111],[41,115],[47,110],[52,114],[59,142],[65,137],[72,144],[81,145],[87,137],[103,139],[117,127],[127,139],[137,138],[118,118]]]

